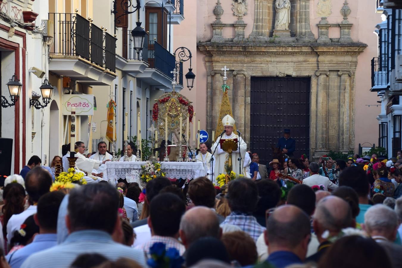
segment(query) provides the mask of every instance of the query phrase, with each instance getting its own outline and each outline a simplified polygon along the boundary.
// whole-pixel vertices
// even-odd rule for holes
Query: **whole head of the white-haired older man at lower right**
[[[371,237],[383,236],[394,241],[398,231],[398,215],[386,205],[374,205],[367,209],[363,227]]]

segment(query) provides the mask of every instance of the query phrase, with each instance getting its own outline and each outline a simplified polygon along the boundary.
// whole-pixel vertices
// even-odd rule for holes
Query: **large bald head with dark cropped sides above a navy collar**
[[[271,255],[278,251],[293,252],[300,260],[306,258],[310,240],[310,218],[294,205],[275,209],[267,220],[265,243]]]

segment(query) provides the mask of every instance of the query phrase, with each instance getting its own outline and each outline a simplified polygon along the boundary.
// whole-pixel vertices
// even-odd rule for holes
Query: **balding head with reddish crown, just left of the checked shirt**
[[[218,217],[211,209],[197,206],[189,209],[180,221],[180,238],[186,249],[191,243],[201,237],[215,237],[220,239],[222,229],[219,227]]]

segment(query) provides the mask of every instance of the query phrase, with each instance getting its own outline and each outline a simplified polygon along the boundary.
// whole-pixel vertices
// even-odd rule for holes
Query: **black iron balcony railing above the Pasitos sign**
[[[115,71],[115,37],[78,14],[49,13],[49,20],[54,36],[51,55],[79,56]]]

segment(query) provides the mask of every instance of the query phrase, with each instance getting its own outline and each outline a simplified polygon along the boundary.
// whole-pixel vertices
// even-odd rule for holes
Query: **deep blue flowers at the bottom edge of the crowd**
[[[184,259],[176,248],[168,248],[164,243],[154,243],[149,252],[151,258],[147,260],[152,268],[181,268]]]

